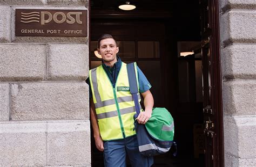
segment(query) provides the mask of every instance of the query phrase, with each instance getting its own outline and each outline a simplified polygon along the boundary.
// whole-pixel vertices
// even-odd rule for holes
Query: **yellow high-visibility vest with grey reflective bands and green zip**
[[[136,67],[135,70],[138,83]],[[115,88],[102,65],[91,69],[89,77],[102,139],[116,140],[135,135],[133,115],[136,110],[129,89],[126,64],[122,62]],[[138,99],[140,102],[139,93]],[[143,111],[141,106],[140,110]]]

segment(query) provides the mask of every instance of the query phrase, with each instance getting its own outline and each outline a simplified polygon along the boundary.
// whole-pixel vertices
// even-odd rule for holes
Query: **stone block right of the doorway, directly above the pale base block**
[[[254,79],[223,82],[224,113],[251,115],[256,113],[256,81]]]

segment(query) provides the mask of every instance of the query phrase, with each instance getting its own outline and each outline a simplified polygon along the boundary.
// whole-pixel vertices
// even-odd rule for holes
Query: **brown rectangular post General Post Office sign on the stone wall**
[[[16,36],[87,36],[87,10],[16,9],[15,13]]]

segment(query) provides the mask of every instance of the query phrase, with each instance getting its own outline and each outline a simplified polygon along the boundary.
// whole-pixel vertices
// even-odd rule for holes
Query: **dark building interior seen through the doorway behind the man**
[[[131,11],[118,9],[122,3],[90,1],[90,68],[101,63],[93,53],[99,35],[112,34],[121,59],[136,61],[149,79],[154,106],[174,118],[178,154],[156,156],[153,166],[204,166],[199,1],[136,0]],[[180,56],[186,48],[194,54]],[[93,139],[92,166],[104,166]]]

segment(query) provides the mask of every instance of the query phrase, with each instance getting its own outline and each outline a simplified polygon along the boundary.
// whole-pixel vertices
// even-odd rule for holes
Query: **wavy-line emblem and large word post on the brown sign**
[[[48,11],[41,11],[41,12],[29,12],[24,13],[21,12],[21,22],[22,23],[32,23],[37,22],[39,23],[39,20],[41,19],[41,25],[45,25],[47,23],[50,23],[51,21],[54,21],[57,24],[62,24],[64,22],[68,24],[82,24],[83,22],[80,20],[80,15],[82,12],[68,12],[67,14],[63,12],[55,12],[50,13]]]

